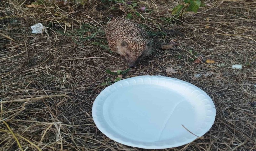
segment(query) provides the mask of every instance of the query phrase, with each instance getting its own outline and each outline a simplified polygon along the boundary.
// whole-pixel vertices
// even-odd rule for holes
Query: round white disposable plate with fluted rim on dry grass
[[[145,149],[190,143],[212,127],[215,115],[213,101],[200,88],[162,76],[118,81],[105,88],[92,107],[93,120],[107,137]]]

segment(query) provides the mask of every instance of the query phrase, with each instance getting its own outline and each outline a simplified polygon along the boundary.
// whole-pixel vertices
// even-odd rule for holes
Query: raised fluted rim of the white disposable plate
[[[216,118],[216,108],[215,108],[215,104],[213,102],[213,100],[210,98],[210,96],[204,92],[201,88],[189,83],[189,82],[186,82],[186,81],[183,81],[183,80],[180,80],[180,79],[177,79],[177,78],[172,78],[172,77],[165,77],[165,76],[161,76],[161,75],[142,75],[142,76],[136,76],[136,77],[131,77],[131,78],[127,78],[127,79],[123,79],[123,80],[120,80],[118,82],[115,82],[114,84],[111,84],[110,86],[104,88],[100,94],[97,95],[97,97],[95,98],[94,102],[93,102],[93,107],[92,107],[92,118],[93,118],[93,121],[96,125],[96,127],[104,134],[106,135],[108,138],[118,142],[118,143],[121,143],[121,144],[124,144],[124,145],[127,145],[127,146],[131,146],[131,147],[138,147],[138,148],[143,148],[143,149],[167,149],[167,148],[173,148],[173,147],[179,147],[179,146],[182,146],[182,145],[185,145],[185,144],[188,144],[190,142],[193,142],[195,139],[197,139],[196,136],[192,137],[191,139],[186,139],[185,141],[183,142],[175,142],[174,144],[163,144],[163,145],[153,145],[154,143],[152,143],[152,145],[143,145],[142,142],[141,143],[134,143],[132,141],[125,141],[124,138],[120,138],[120,137],[116,137],[114,136],[113,134],[109,133],[106,129],[106,126],[104,127],[103,124],[101,124],[102,121],[100,121],[97,116],[97,108],[99,105],[99,99],[102,95],[104,95],[103,93],[105,93],[106,91],[110,90],[113,86],[115,85],[118,85],[120,83],[123,83],[125,81],[128,81],[128,80],[132,80],[132,79],[137,79],[137,78],[164,78],[164,79],[170,79],[170,80],[175,80],[175,81],[179,81],[179,82],[182,82],[182,83],[185,83],[187,84],[188,86],[192,86],[194,88],[197,88],[201,93],[203,93],[207,99],[210,100],[210,105],[212,107],[212,110],[213,110],[213,116],[211,116],[211,119],[210,121],[208,122],[206,128],[204,128],[202,135],[198,135],[199,137],[203,136],[204,134],[206,134],[213,126],[214,124],[214,121],[215,121],[215,118]],[[111,91],[110,91],[111,92]],[[107,98],[108,96],[106,96]],[[104,102],[103,102],[103,105],[104,105]],[[102,105],[102,110],[103,110],[103,105]],[[213,109],[214,108],[214,109]],[[103,115],[104,116],[104,115]],[[207,130],[207,131],[206,131]]]

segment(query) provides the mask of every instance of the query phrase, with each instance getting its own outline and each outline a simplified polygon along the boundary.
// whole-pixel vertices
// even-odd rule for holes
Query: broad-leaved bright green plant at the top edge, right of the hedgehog
[[[197,13],[199,7],[204,6],[205,4],[202,3],[201,0],[184,0],[183,5],[177,5],[172,9],[172,15],[175,15],[182,19],[182,15],[184,13],[187,13],[188,11],[193,11],[194,13]],[[185,12],[183,12],[185,10]]]

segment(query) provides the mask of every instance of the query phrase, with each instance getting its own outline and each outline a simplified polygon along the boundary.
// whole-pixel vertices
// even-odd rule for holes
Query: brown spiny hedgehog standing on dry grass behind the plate
[[[112,18],[104,31],[110,50],[125,59],[130,68],[136,67],[152,51],[146,30],[133,20]]]

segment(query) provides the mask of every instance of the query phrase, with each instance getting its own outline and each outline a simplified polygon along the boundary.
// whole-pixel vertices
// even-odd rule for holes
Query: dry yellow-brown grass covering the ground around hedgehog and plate
[[[152,32],[178,29],[184,36],[154,36],[161,44],[177,39],[181,46],[171,50],[157,46],[124,78],[166,76],[158,70],[173,67],[179,72],[172,77],[198,86],[216,106],[216,120],[204,138],[165,150],[255,151],[256,2],[207,0],[209,5],[199,13],[185,14],[182,24],[163,19],[172,17],[170,10],[177,4],[175,1],[137,2],[134,8],[116,4],[116,10],[108,10],[114,3],[103,4],[100,0],[88,0],[79,7],[57,2],[36,7],[29,7],[31,2],[24,0],[0,2],[1,151],[143,150],[107,138],[97,129],[91,115],[93,101],[104,89],[100,84],[107,77],[113,78],[105,70],[128,67],[108,50],[102,27],[110,15],[126,16],[130,12],[133,19]],[[147,6],[151,13],[139,11],[140,6]],[[38,22],[48,26],[49,36],[45,32],[31,33],[30,26]],[[216,63],[189,61],[190,49]],[[179,55],[183,57],[179,59]],[[246,62],[251,66],[246,68]],[[217,67],[220,63],[225,66]],[[234,70],[233,64],[244,66]],[[215,74],[192,79],[193,74],[207,71]]]

